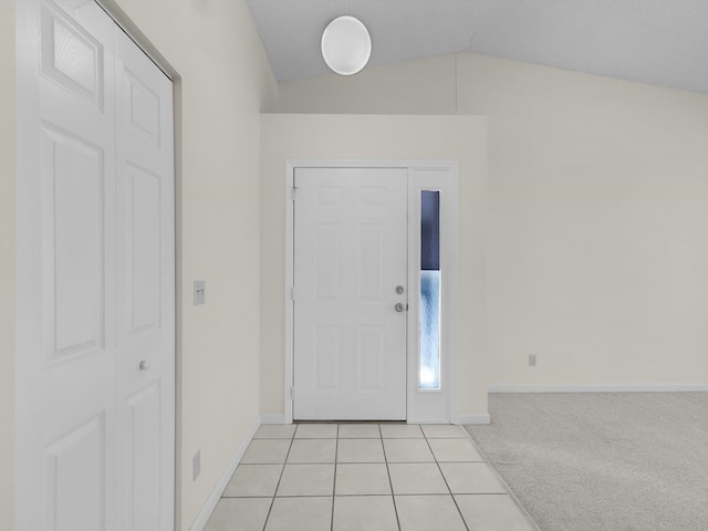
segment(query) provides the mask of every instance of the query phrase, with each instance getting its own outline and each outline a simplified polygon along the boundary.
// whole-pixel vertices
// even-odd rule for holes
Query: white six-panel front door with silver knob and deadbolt
[[[407,170],[296,168],[294,185],[293,416],[406,419]]]

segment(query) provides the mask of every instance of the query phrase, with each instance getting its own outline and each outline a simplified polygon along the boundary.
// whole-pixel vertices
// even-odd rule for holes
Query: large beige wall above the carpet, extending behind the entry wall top
[[[280,101],[489,117],[489,383],[708,383],[707,95],[458,54]]]

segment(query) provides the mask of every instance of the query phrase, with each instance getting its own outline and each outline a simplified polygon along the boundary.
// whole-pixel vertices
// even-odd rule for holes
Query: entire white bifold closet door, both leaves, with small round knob
[[[174,530],[173,85],[18,2],[17,531]]]

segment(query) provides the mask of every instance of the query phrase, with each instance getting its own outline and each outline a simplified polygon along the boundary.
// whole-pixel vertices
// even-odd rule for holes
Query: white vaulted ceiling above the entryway
[[[248,0],[275,76],[327,73],[326,24],[368,28],[369,65],[476,52],[708,93],[708,0]]]

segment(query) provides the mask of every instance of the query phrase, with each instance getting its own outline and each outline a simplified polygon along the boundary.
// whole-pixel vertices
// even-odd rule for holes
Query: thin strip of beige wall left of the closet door
[[[0,1],[0,529],[14,527],[14,2]]]

